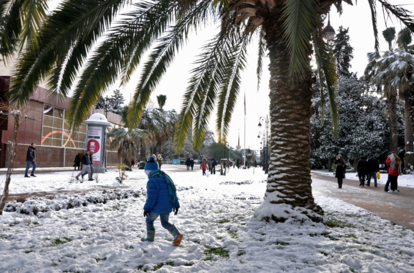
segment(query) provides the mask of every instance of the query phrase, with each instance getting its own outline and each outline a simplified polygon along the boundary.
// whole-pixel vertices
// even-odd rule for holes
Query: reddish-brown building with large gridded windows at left
[[[10,88],[10,76],[0,76],[0,99],[7,102],[6,93]],[[47,90],[39,87],[33,94],[25,109],[25,115],[35,120],[21,120],[17,135],[17,152],[14,167],[26,166],[26,152],[28,147],[36,144],[38,167],[70,167],[73,166],[75,156],[86,147],[87,126],[83,125],[78,132],[70,133],[67,125],[69,101],[53,100]],[[103,110],[91,109],[88,117]],[[120,116],[108,112],[108,121],[113,127],[122,127]],[[12,139],[14,118],[0,116],[0,167],[7,167],[9,154],[8,142]],[[109,140],[110,141],[110,140]],[[117,153],[106,145],[107,165],[118,163]]]

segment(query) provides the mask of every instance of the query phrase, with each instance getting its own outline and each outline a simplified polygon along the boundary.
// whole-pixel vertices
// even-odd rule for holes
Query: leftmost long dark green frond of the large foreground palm
[[[55,65],[63,64],[73,42],[79,39],[83,43],[85,37],[96,41],[127,2],[129,0],[62,2],[38,33],[38,47],[20,56],[14,73],[14,85],[9,92],[10,102],[24,105]]]

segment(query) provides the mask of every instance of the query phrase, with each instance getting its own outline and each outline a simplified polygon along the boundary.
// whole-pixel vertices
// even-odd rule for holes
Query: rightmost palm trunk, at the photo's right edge
[[[414,86],[410,87],[414,94]],[[413,130],[413,106],[409,91],[405,92],[404,98],[404,173],[414,172],[414,130]]]

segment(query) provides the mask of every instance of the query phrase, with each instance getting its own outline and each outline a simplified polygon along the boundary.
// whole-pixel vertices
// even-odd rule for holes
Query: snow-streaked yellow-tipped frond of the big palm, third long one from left
[[[141,111],[145,108],[151,92],[156,88],[176,53],[183,46],[189,29],[195,29],[197,25],[207,19],[210,2],[202,1],[198,5],[191,5],[192,9],[187,14],[182,15],[183,18],[179,19],[171,27],[166,36],[157,41],[159,45],[152,51],[148,61],[145,63],[141,80],[135,89],[132,109],[130,109],[129,113],[132,122],[138,123]],[[136,60],[138,58],[130,59]],[[135,67],[136,62],[128,64],[124,72],[126,79],[129,78]]]

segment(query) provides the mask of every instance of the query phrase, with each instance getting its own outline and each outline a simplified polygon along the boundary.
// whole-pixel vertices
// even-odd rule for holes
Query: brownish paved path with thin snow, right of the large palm
[[[374,187],[371,181],[370,187],[360,187],[359,181],[344,179],[342,189],[338,189],[334,177],[312,173],[312,178],[331,182],[313,183],[314,194],[344,200],[414,231],[414,188],[398,187],[398,193],[387,193],[384,184]]]

